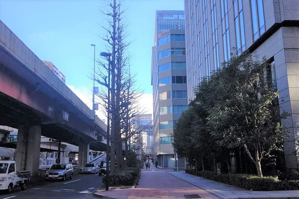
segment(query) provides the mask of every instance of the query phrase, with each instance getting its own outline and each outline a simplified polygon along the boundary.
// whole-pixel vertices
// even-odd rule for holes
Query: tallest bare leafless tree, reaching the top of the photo
[[[126,72],[126,68],[129,62],[129,55],[126,53],[126,49],[130,42],[126,42],[126,20],[123,17],[125,9],[122,8],[123,1],[121,0],[108,0],[105,1],[106,6],[100,8],[100,12],[106,16],[106,24],[100,25],[106,34],[100,35],[100,38],[106,41],[106,50],[111,53],[110,57],[106,57],[106,61],[102,59],[97,60],[98,69],[96,81],[103,87],[97,96],[100,98],[100,105],[102,110],[106,112],[111,110],[111,147],[110,147],[110,159],[111,159],[111,173],[115,172],[115,161],[118,161],[117,167],[123,167],[123,156],[121,146],[121,112],[122,102],[124,101],[123,92],[126,89],[126,84],[130,81],[130,77]],[[110,71],[108,63],[111,64]],[[108,104],[108,75],[111,73],[110,92],[111,100]],[[116,155],[116,159],[115,159]]]

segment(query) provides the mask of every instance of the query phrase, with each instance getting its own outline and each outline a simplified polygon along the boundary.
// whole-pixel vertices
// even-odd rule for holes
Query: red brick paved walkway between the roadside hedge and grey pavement
[[[187,183],[168,172],[173,169],[142,169],[139,184],[135,189],[97,191],[103,198],[144,199],[144,198],[185,198],[184,195],[198,194],[201,198],[217,198],[196,186]]]

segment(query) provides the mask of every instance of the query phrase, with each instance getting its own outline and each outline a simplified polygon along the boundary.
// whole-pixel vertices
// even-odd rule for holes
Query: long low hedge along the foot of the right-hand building
[[[243,189],[253,191],[299,190],[299,181],[280,181],[276,177],[258,177],[247,174],[221,174],[213,171],[195,171],[187,169],[186,173],[197,175],[213,181],[218,181]]]

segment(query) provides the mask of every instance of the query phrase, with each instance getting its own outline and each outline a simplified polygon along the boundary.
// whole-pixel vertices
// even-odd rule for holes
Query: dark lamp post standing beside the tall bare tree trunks
[[[105,53],[102,52],[100,53],[101,56],[103,57],[108,57],[108,99],[107,99],[107,147],[106,147],[106,191],[109,190],[109,160],[110,160],[110,156],[109,156],[109,132],[110,132],[110,65],[111,65],[111,61],[110,61],[110,56],[111,53]]]

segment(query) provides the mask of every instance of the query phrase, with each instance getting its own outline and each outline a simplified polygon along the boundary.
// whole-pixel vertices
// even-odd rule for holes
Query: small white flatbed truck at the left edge
[[[25,190],[29,176],[16,171],[15,161],[0,161],[0,190],[11,193],[14,187]]]

